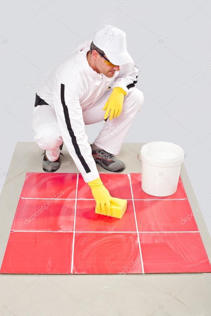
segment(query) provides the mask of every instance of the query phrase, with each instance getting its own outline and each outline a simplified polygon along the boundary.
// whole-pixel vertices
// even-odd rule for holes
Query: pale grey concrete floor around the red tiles
[[[141,172],[143,143],[126,143],[118,158],[124,173]],[[43,172],[36,143],[17,143],[0,198],[0,264],[26,172]],[[78,172],[65,146],[58,172]],[[99,173],[104,170],[97,164]],[[181,178],[192,210],[198,205],[184,164]],[[195,215],[211,261],[210,236],[201,212]],[[16,316],[210,316],[211,274],[0,275],[0,315]],[[104,291],[104,285],[113,284]]]

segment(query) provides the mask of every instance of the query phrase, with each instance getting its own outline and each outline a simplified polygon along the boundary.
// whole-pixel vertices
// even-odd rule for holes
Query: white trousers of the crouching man
[[[95,103],[82,107],[84,124],[94,124],[104,120],[106,111],[103,107],[111,94],[112,89],[107,89],[102,97]],[[107,152],[118,155],[124,139],[127,139],[127,133],[134,117],[143,106],[144,96],[138,88],[133,87],[124,97],[122,111],[119,117],[105,122],[94,143],[96,146]],[[33,111],[33,130],[35,132],[34,140],[41,149],[46,150],[47,158],[55,161],[59,157],[59,146],[63,143],[60,133],[60,127],[57,122],[55,109],[49,105],[38,105]],[[65,144],[67,146],[67,144]]]

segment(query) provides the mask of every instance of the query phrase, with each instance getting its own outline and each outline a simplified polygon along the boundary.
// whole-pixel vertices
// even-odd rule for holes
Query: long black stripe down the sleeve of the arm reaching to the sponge
[[[81,161],[86,173],[89,173],[89,172],[91,172],[91,170],[90,170],[89,166],[87,165],[86,161],[84,160],[83,155],[81,155],[81,151],[79,149],[76,137],[74,135],[74,131],[72,130],[72,127],[71,127],[71,122],[70,122],[68,108],[67,108],[67,106],[65,104],[65,85],[63,83],[61,83],[61,103],[62,103],[62,106],[63,106],[63,111],[64,111],[64,115],[65,115],[65,122],[66,122],[66,125],[67,125],[67,129],[68,129],[68,132],[70,134],[70,137],[71,137],[72,144],[73,144],[73,147],[75,149],[76,155],[78,156],[78,159]]]

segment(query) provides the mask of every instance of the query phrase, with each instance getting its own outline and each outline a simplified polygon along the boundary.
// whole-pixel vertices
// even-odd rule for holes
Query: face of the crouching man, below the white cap
[[[109,59],[106,55],[104,55],[105,58]],[[113,77],[116,71],[120,70],[120,66],[115,66],[111,67],[107,65],[105,62],[105,59],[97,52],[97,51],[92,51],[91,55],[91,64],[93,62],[92,67],[97,73],[103,74],[106,77]]]

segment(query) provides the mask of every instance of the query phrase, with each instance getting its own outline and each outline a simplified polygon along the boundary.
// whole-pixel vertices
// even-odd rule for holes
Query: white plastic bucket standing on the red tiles
[[[157,197],[174,194],[184,160],[182,147],[169,142],[151,142],[142,146],[140,157],[142,190]]]

